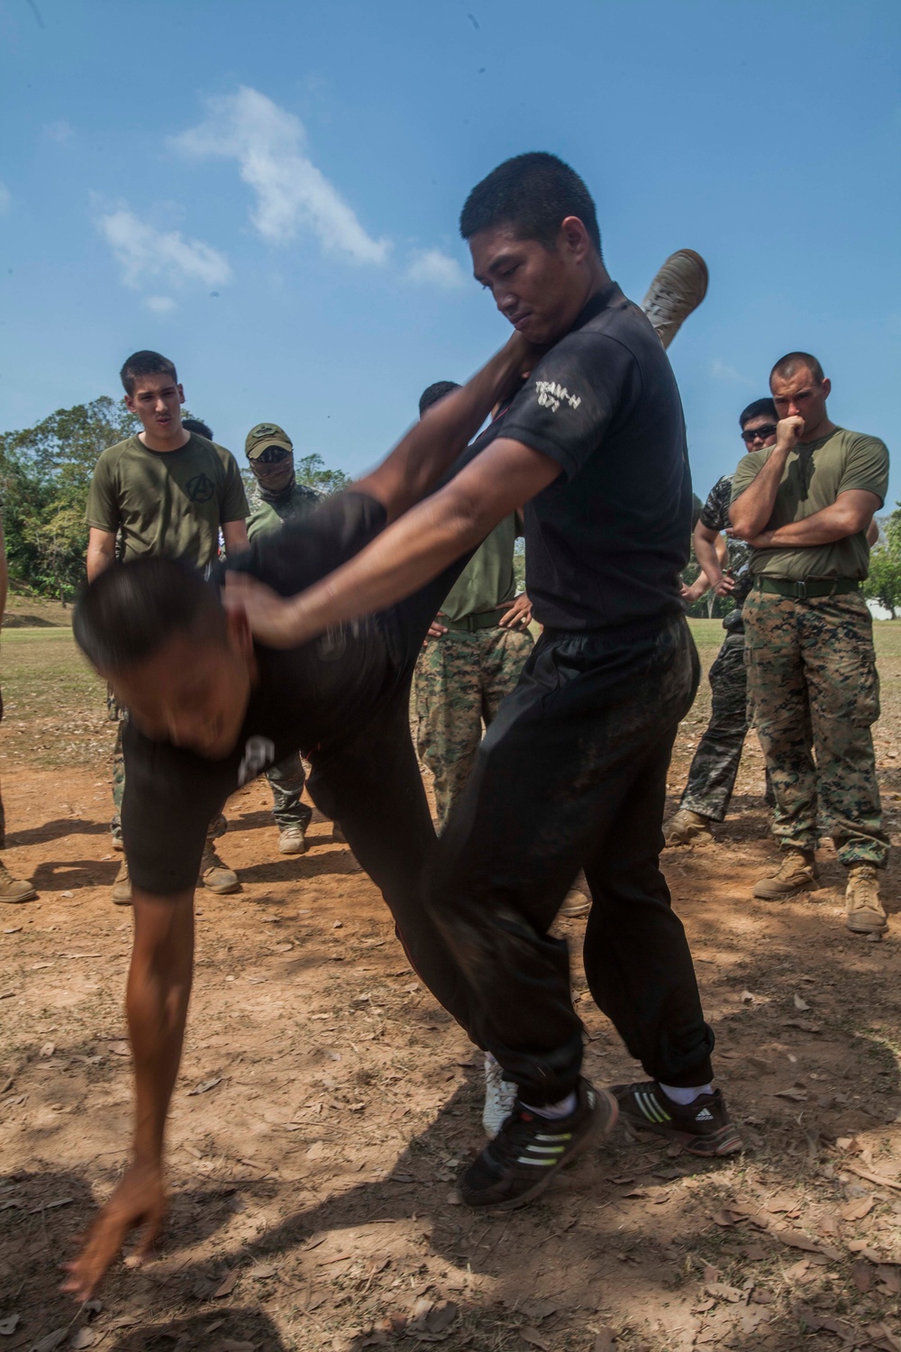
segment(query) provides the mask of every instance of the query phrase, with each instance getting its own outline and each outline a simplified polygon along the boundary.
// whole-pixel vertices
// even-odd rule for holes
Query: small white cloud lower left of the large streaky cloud
[[[217,249],[203,239],[184,239],[178,230],[157,230],[128,207],[100,215],[97,228],[122,264],[128,287],[140,287],[151,277],[219,287],[231,277],[228,260]]]

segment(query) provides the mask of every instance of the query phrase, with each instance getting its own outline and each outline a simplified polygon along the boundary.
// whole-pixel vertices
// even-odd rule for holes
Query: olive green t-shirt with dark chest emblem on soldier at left
[[[101,454],[85,521],[122,531],[123,560],[166,554],[205,568],[219,553],[219,527],[250,514],[238,461],[190,434],[178,450],[149,450],[138,437]]]

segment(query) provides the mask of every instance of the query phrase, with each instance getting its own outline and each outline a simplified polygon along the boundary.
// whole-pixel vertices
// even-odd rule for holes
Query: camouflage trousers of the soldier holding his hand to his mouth
[[[783,849],[831,836],[843,864],[883,868],[870,726],[879,717],[873,619],[856,592],[796,600],[751,592],[744,603],[748,711],[775,792]]]

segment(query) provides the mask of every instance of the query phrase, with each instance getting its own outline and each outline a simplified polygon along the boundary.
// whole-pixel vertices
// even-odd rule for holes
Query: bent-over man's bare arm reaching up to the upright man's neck
[[[450,469],[498,399],[516,387],[520,373],[534,364],[535,353],[515,333],[471,380],[434,404],[386,460],[353,488],[376,498],[388,511],[389,522],[409,511]]]

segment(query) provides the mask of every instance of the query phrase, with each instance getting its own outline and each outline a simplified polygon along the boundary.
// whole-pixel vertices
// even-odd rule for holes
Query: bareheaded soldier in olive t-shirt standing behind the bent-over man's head
[[[126,407],[142,431],[103,452],[91,480],[85,519],[88,581],[118,558],[130,562],[145,554],[166,554],[195,568],[219,556],[219,531],[231,554],[247,548],[247,498],[231,452],[190,431],[181,422],[184,389],[174,365],[157,352],[136,352],[119,372]],[[119,553],[116,550],[119,538]],[[122,800],[126,765],[122,752],[124,710],[111,704],[119,722],[113,753],[111,823],[112,844],[122,849]],[[213,840],[226,830],[217,815],[209,823],[200,879],[211,892],[234,892],[238,877],[219,859]],[[131,904],[128,860],[112,887],[116,906]]]

